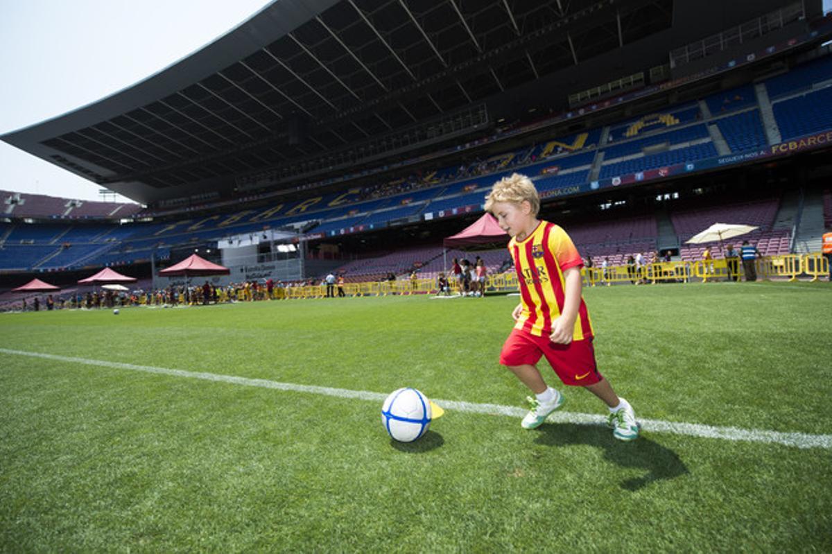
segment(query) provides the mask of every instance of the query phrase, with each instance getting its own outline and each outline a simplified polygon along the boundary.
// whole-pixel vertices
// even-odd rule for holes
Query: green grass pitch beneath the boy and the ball
[[[585,289],[641,418],[827,435],[832,285]],[[522,405],[517,298],[272,301],[0,316],[0,348]],[[0,353],[2,552],[830,552],[832,450],[381,402]],[[542,364],[544,376],[557,378]],[[560,387],[563,390],[563,387]],[[605,413],[566,390],[563,409]]]

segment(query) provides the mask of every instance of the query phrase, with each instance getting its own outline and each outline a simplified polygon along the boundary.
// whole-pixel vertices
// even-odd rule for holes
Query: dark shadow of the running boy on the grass
[[[603,448],[604,458],[618,466],[644,469],[646,474],[642,477],[633,477],[621,483],[622,488],[628,491],[637,491],[651,482],[688,473],[685,462],[678,454],[643,436],[632,443],[622,443],[613,438],[612,431],[605,426],[575,423],[547,423],[539,431],[540,436],[535,438],[535,443],[552,447],[587,444]]]

